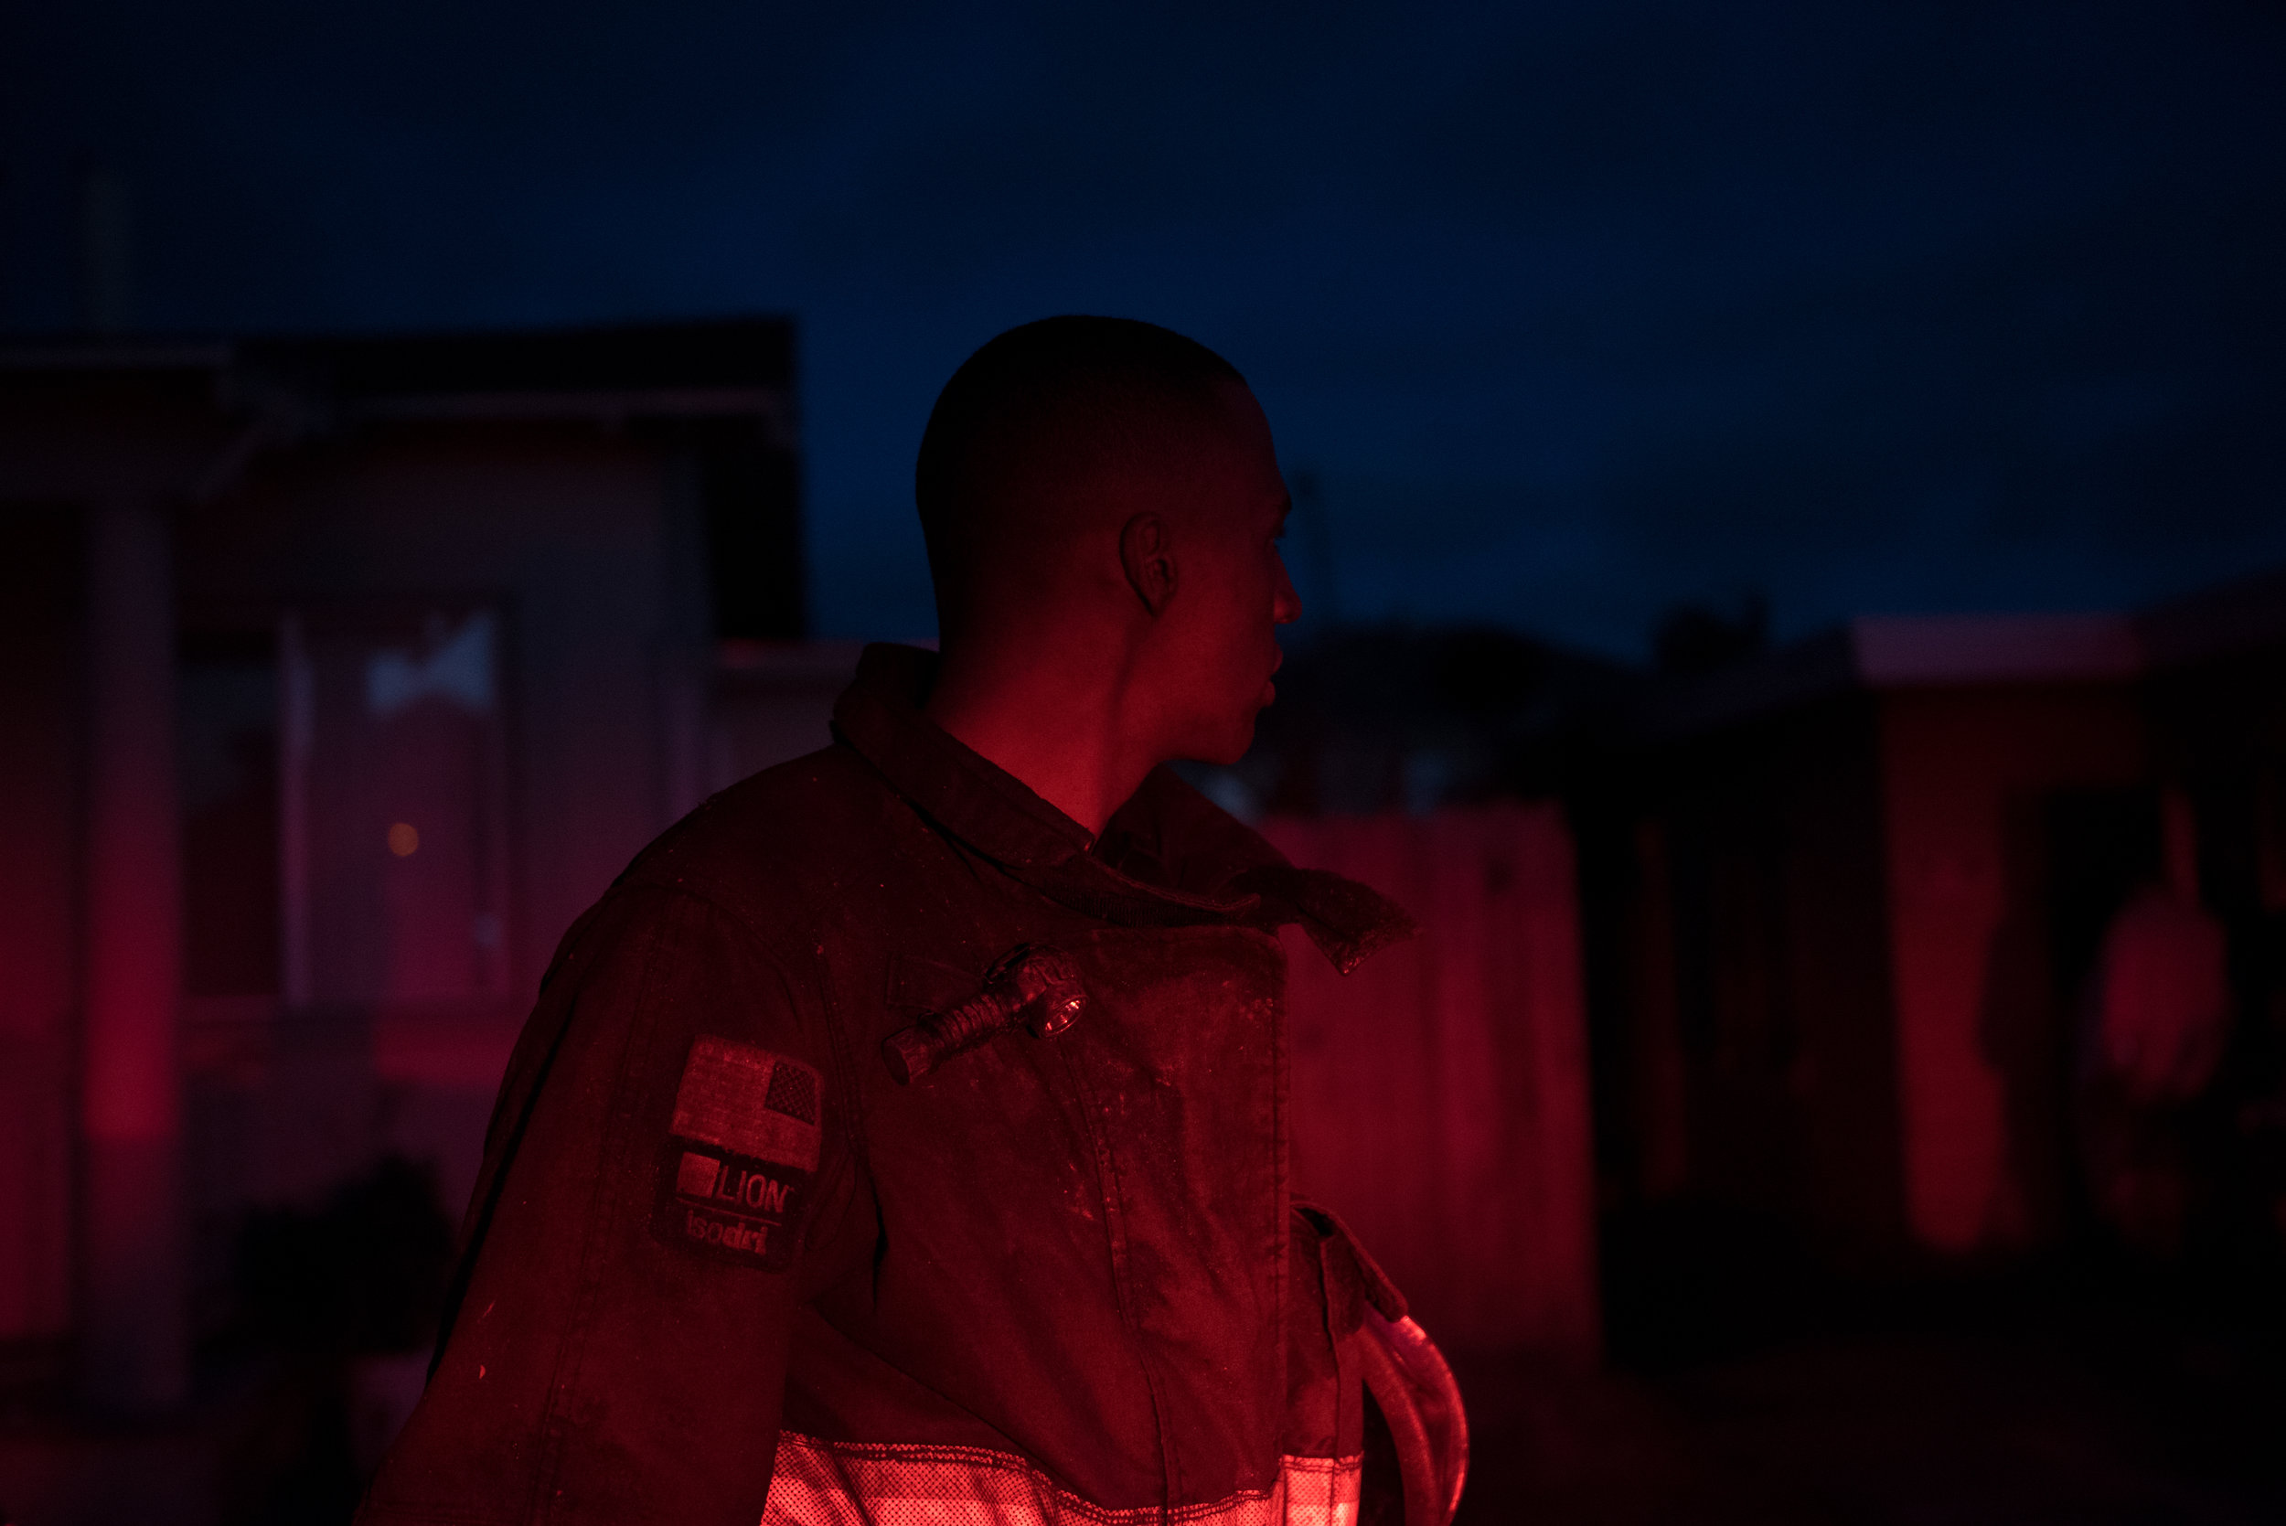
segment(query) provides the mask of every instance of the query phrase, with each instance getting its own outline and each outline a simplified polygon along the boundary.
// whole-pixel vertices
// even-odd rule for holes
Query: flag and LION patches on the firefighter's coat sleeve
[[[652,1234],[782,1272],[818,1170],[823,1076],[754,1044],[697,1037],[674,1087]]]

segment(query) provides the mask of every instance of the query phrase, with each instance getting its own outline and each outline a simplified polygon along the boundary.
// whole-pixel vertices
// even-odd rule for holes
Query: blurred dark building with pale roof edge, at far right
[[[2222,932],[2229,1049],[2167,1108],[2240,1172],[2281,1078],[2281,802],[2286,578],[2140,617],[1859,619],[1669,685],[1575,793],[1614,1190],[1859,1268],[2071,1238],[2103,1208],[2094,1044],[2147,893],[2192,964]]]

